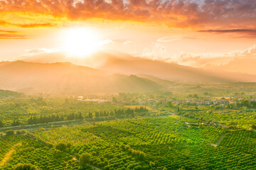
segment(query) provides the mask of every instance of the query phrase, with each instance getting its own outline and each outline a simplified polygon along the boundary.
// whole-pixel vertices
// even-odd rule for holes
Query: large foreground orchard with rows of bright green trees
[[[36,130],[0,138],[2,169],[255,169],[255,134],[176,116]]]

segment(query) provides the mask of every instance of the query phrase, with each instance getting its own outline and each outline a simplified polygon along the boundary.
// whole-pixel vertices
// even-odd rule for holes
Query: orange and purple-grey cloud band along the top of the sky
[[[10,15],[1,18],[2,25],[22,26],[20,21],[10,19],[12,15],[22,16],[26,26],[31,27],[100,18],[154,22],[176,28],[256,28],[255,0],[19,0],[0,1],[0,13]]]

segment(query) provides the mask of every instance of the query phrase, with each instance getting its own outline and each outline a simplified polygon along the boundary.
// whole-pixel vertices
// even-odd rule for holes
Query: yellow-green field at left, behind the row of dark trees
[[[112,111],[117,107],[110,103],[88,103],[71,98],[12,98],[0,102],[0,120],[5,125],[11,125],[14,120],[26,125],[31,116],[40,118],[44,115],[59,115],[68,120],[67,115],[73,113],[86,117],[89,111]]]

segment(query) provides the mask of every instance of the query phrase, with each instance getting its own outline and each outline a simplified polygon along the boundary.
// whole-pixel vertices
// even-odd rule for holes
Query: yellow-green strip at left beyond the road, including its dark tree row
[[[114,120],[145,115],[144,106],[124,108],[112,103],[78,101],[71,98],[15,98],[0,102],[0,128],[58,123],[68,120]]]

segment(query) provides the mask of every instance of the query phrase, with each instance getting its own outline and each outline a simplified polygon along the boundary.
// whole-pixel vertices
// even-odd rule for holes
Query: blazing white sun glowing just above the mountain
[[[63,50],[70,57],[87,57],[100,47],[97,33],[89,28],[68,28],[63,35]]]

